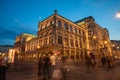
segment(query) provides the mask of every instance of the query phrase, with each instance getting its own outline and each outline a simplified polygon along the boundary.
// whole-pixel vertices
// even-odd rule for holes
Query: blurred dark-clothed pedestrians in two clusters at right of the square
[[[113,58],[112,56],[107,56],[105,54],[102,55],[102,57],[99,59],[102,67],[109,71],[113,67]],[[95,54],[90,53],[89,55],[85,55],[85,64],[87,68],[87,73],[91,73],[92,70],[96,68],[96,64],[99,63],[97,57]]]

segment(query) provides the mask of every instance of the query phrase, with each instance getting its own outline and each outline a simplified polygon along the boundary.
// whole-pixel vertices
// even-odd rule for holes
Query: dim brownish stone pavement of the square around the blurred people
[[[86,73],[83,62],[68,62],[67,80],[120,80],[120,60],[116,60],[114,68],[107,71],[98,64],[90,74]],[[37,77],[36,62],[20,62],[7,70],[6,80],[42,80]]]

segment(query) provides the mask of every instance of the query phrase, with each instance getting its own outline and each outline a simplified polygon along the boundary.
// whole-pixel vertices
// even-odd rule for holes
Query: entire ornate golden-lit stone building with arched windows
[[[91,52],[109,55],[110,44],[108,30],[99,26],[93,17],[72,22],[55,10],[53,15],[39,22],[37,37],[26,34],[16,37],[15,51],[27,56],[53,51],[78,60]]]

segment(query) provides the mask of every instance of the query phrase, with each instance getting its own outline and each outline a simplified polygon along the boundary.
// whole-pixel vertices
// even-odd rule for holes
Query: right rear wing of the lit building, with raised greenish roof
[[[85,26],[88,30],[88,42],[89,50],[96,55],[112,55],[111,41],[109,38],[109,32],[106,28],[102,28],[95,22],[95,19],[90,16],[75,22],[80,26]]]

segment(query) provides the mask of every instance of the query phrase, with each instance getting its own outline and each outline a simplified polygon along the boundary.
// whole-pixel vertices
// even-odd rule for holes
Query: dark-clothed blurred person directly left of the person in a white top
[[[43,58],[43,80],[50,78],[50,58],[48,54],[45,54]]]

